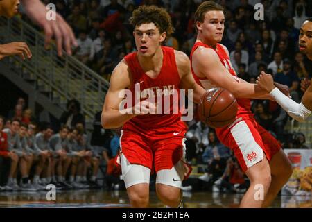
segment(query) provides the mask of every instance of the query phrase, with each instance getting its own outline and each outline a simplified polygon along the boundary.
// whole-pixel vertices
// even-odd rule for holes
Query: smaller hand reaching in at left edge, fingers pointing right
[[[29,49],[25,42],[10,42],[8,44],[1,44],[0,55],[3,57],[17,55],[20,56],[23,60],[25,60],[26,57],[31,58],[32,56],[31,49]]]

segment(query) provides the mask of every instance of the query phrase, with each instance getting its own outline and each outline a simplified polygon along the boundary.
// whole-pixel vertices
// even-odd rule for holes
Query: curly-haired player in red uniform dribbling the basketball
[[[179,207],[182,180],[187,176],[183,160],[187,128],[181,114],[122,114],[119,93],[130,89],[132,95],[157,97],[158,101],[173,96],[174,89],[193,89],[194,101],[198,102],[205,89],[193,79],[189,58],[184,53],[161,46],[166,35],[173,33],[166,10],[139,6],[130,23],[135,28],[137,52],[125,56],[114,69],[101,123],[104,128],[123,126],[119,161],[132,207],[148,207],[151,171],[157,173],[156,191],[162,203]],[[140,91],[136,92],[138,86]],[[158,106],[148,99],[128,109],[139,107],[141,113],[153,113]]]

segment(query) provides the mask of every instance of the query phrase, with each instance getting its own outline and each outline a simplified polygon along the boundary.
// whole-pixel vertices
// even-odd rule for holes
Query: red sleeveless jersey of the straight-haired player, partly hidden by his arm
[[[236,73],[231,65],[231,62],[229,60],[229,56],[227,56],[227,52],[225,51],[225,49],[223,48],[223,46],[221,44],[217,44],[216,45],[216,49],[212,48],[211,46],[208,46],[207,44],[204,44],[202,42],[196,42],[196,44],[194,44],[193,49],[191,51],[191,63],[192,63],[192,56],[194,51],[196,51],[196,49],[199,46],[204,46],[205,48],[209,48],[209,49],[213,49],[219,59],[220,62],[222,63],[222,65],[227,68],[227,70],[229,71],[230,74],[232,74],[232,76],[234,77],[234,79],[237,82],[240,82],[239,78],[236,78]],[[211,85],[211,83],[209,83],[209,80],[207,78],[200,78],[198,76],[196,76],[193,67],[191,67],[191,71],[193,74],[193,77],[196,80],[196,83],[198,83],[199,85],[202,85],[202,87],[204,87],[205,89],[209,89],[211,87],[214,87],[214,85]],[[251,103],[250,103],[250,99],[236,99],[238,105],[239,105],[239,110],[237,111],[236,114],[236,119],[239,119],[241,117],[241,119],[245,119],[245,118],[250,118],[253,116],[252,112],[250,111],[250,107],[251,107]]]

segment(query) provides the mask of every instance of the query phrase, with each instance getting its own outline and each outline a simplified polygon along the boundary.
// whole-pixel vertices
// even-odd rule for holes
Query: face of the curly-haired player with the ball
[[[138,53],[146,57],[153,56],[166,39],[166,33],[159,33],[159,29],[153,23],[136,26],[133,35]]]

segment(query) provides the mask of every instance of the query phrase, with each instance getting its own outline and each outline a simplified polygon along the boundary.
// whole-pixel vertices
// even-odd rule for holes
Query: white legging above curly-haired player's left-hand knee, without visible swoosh
[[[131,187],[139,183],[150,183],[150,169],[142,165],[130,164],[125,155],[121,153],[121,178],[125,187]]]

